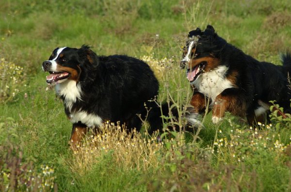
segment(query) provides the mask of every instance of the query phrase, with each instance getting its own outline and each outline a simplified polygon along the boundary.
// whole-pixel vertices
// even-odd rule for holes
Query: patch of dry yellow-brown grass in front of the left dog
[[[106,123],[98,133],[87,136],[74,151],[70,167],[73,172],[86,174],[104,155],[111,155],[116,166],[123,169],[146,171],[149,167],[160,166],[159,154],[163,150],[157,134],[142,136],[133,130],[127,132],[120,125]]]

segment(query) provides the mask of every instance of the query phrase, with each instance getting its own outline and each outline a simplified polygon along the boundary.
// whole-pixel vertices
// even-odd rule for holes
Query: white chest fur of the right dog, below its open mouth
[[[191,83],[199,92],[205,94],[213,103],[217,95],[228,88],[235,86],[226,78],[228,67],[218,66],[210,72],[200,74],[197,79]]]

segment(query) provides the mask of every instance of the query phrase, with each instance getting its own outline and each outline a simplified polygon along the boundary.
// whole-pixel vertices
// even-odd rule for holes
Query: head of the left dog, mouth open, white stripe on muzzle
[[[48,84],[63,83],[67,80],[74,80],[76,83],[84,81],[87,71],[96,68],[98,65],[97,55],[87,45],[80,49],[62,47],[53,50],[49,60],[42,63],[42,69],[49,72]]]

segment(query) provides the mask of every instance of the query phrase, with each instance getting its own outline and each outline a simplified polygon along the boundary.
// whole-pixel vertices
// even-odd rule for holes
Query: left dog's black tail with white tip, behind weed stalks
[[[179,123],[177,123],[178,118],[181,118]],[[155,103],[155,106],[152,105],[147,115],[147,121],[150,125],[149,134],[157,130],[162,131],[165,125],[170,130],[175,128],[176,131],[180,129],[191,131],[195,128],[203,127],[202,122],[198,120],[198,114],[194,113],[193,108],[188,107],[184,112],[179,113],[178,108],[173,107],[172,103],[163,103],[162,106],[158,106],[157,103]]]

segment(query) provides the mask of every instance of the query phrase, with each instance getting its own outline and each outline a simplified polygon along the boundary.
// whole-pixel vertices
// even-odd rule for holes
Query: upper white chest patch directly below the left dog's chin
[[[55,86],[56,93],[59,96],[65,97],[65,102],[75,103],[77,99],[81,100],[82,90],[80,83],[74,80],[68,80],[63,83],[58,83]]]

